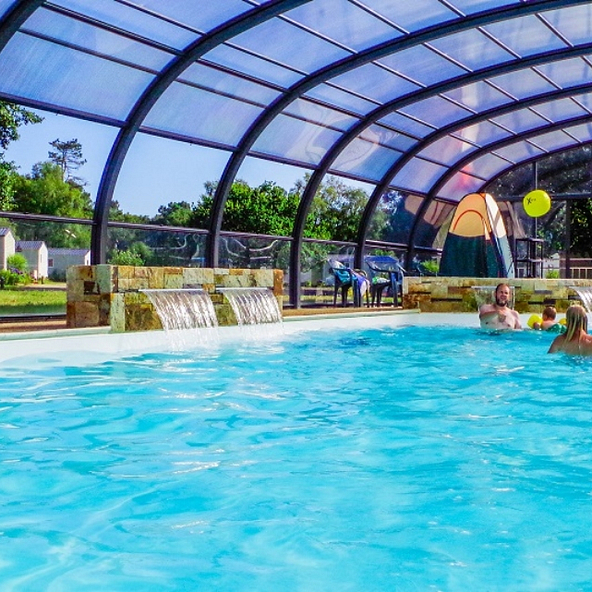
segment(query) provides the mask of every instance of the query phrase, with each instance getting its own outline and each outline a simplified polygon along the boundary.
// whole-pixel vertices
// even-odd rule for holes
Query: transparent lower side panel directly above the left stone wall
[[[118,253],[138,253],[144,265],[150,267],[203,267],[206,235],[187,229],[143,230],[109,227],[107,262]]]

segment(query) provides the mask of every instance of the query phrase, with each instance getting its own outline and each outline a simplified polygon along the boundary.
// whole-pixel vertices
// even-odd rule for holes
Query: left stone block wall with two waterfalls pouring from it
[[[271,288],[283,306],[283,271],[77,265],[67,272],[68,327],[110,326],[113,332],[161,329],[160,319],[140,290],[202,288],[209,292],[220,325],[236,324],[230,304],[216,288]]]

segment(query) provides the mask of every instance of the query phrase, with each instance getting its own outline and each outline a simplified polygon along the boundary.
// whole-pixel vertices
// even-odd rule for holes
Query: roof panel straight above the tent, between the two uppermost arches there
[[[476,29],[435,39],[431,45],[471,70],[514,59],[512,54]]]

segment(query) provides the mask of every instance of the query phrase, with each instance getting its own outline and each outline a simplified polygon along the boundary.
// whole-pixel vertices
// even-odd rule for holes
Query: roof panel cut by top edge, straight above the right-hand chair
[[[364,0],[364,4],[406,31],[417,31],[457,17],[437,0]]]

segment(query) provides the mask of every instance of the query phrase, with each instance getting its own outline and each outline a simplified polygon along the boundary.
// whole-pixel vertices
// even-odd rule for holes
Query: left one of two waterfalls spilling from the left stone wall
[[[141,290],[154,306],[165,331],[217,327],[210,295],[198,288]]]

